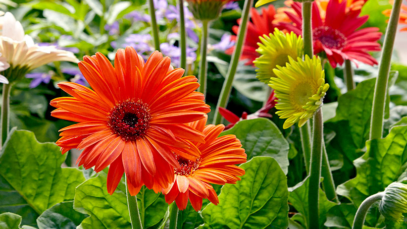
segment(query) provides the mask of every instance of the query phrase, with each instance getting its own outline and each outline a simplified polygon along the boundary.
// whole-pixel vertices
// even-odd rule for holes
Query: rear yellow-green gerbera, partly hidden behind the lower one
[[[269,83],[270,78],[276,77],[273,69],[277,65],[285,66],[288,62],[288,57],[302,57],[304,53],[303,39],[297,36],[294,32],[284,34],[277,28],[273,34],[266,34],[259,37],[260,42],[257,43],[256,50],[261,56],[257,57],[253,63],[256,69],[257,79],[263,83]]]

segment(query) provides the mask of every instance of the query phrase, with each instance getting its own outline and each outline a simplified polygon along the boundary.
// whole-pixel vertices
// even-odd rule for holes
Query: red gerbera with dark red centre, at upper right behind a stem
[[[369,65],[377,64],[367,52],[380,51],[377,41],[382,33],[379,28],[368,27],[356,30],[363,25],[368,15],[359,17],[360,10],[346,10],[347,1],[330,0],[323,20],[316,2],[312,4],[312,33],[314,53],[325,52],[332,67],[343,64],[344,59],[360,61]],[[286,12],[293,21],[281,23],[284,28],[300,35],[302,33],[301,3],[293,2],[296,14]]]

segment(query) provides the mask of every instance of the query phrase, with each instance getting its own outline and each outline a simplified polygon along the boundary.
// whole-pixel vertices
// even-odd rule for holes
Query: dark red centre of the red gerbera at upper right
[[[346,45],[346,37],[339,30],[328,26],[319,26],[313,29],[313,38],[330,49],[342,49]]]

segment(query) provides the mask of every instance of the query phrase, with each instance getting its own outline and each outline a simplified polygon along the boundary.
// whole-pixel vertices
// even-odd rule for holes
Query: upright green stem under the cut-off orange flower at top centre
[[[206,62],[206,52],[208,45],[208,28],[209,21],[202,21],[202,37],[201,37],[201,60],[199,62],[199,86],[198,91],[206,95],[206,71],[208,63]]]

